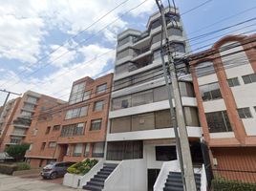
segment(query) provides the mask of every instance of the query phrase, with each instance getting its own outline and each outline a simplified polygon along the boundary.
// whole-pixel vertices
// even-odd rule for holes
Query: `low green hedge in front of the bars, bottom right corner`
[[[245,183],[240,180],[226,180],[215,178],[212,180],[214,191],[256,191],[255,183]]]

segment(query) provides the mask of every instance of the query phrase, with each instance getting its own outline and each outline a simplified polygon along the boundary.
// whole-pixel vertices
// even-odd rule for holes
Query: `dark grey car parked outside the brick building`
[[[67,169],[74,164],[74,162],[52,162],[43,167],[41,176],[43,179],[56,179],[63,177],[67,173]]]

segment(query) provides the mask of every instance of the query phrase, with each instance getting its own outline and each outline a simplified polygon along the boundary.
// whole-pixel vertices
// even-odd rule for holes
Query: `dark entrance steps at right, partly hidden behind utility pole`
[[[201,174],[195,174],[197,190],[201,190]],[[169,172],[163,191],[183,191],[181,172]]]

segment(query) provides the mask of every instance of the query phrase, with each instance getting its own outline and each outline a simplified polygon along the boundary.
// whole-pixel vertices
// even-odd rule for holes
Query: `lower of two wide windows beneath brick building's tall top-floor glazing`
[[[85,123],[65,125],[61,130],[61,137],[81,136],[84,134]]]

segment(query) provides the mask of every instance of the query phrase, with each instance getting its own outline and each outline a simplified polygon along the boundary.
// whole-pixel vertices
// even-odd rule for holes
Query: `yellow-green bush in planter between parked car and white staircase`
[[[94,167],[94,165],[96,165],[96,163],[96,159],[85,159],[73,164],[67,169],[67,171],[68,173],[75,175],[85,175]]]

